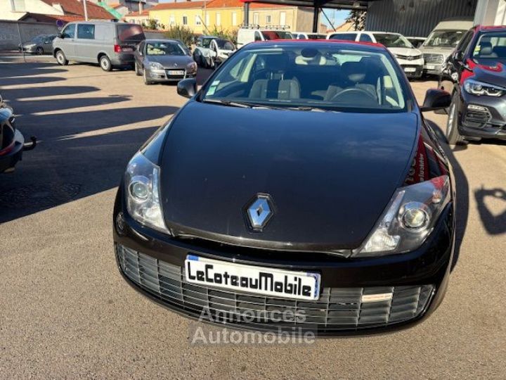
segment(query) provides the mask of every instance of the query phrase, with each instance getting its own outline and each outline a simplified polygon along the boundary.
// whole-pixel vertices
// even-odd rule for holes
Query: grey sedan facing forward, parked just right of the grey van
[[[135,72],[145,84],[174,82],[197,75],[197,63],[175,39],[146,39],[135,53]]]

